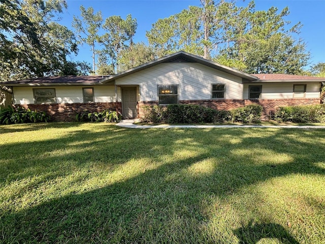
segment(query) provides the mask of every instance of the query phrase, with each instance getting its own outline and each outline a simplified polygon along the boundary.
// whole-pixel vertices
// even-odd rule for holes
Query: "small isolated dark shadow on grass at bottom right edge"
[[[247,226],[234,230],[234,234],[239,238],[240,244],[256,244],[263,238],[274,238],[281,243],[299,244],[286,228],[277,223],[253,223],[251,220]]]

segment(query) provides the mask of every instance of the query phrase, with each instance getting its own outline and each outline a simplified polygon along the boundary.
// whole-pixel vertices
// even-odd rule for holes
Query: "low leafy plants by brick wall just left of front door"
[[[83,111],[76,114],[76,121],[84,122],[116,122],[122,119],[120,112],[105,109],[102,112]]]

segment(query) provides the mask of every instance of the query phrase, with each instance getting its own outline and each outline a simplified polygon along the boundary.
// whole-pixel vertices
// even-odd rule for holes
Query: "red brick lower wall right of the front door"
[[[180,100],[179,104],[196,104],[217,110],[231,110],[243,107],[252,103],[263,107],[262,119],[270,118],[278,107],[295,105],[320,104],[319,98],[301,98],[301,99],[221,99],[221,100]],[[138,102],[139,117],[144,115],[143,106],[158,105],[158,101],[140,101]]]

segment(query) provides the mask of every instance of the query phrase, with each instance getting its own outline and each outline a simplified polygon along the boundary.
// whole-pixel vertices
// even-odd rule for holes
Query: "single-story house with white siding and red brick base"
[[[124,118],[145,105],[199,104],[230,110],[251,103],[268,118],[279,106],[320,103],[325,78],[246,74],[184,51],[112,76],[43,77],[0,83],[13,104],[47,111],[54,121],[73,121],[83,110],[118,109]]]

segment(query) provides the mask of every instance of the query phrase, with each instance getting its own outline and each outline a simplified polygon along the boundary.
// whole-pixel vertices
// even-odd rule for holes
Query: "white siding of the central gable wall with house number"
[[[242,99],[242,79],[198,63],[164,63],[115,80],[140,85],[140,101],[156,101],[157,85],[179,85],[179,100],[211,99],[211,84],[225,86],[225,99]]]

